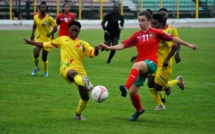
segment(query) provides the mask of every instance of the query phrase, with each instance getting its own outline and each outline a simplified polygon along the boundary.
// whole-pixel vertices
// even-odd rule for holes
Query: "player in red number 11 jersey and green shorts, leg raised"
[[[125,48],[136,46],[137,48],[137,60],[133,64],[131,72],[124,85],[119,87],[121,96],[126,97],[127,92],[130,93],[130,98],[136,111],[129,119],[135,121],[137,118],[144,113],[143,106],[140,101],[138,90],[143,85],[148,74],[155,73],[157,69],[157,53],[158,46],[161,40],[173,41],[180,43],[192,49],[197,49],[196,45],[187,43],[179,38],[172,37],[165,34],[159,29],[151,28],[152,16],[147,11],[142,11],[138,15],[138,21],[140,30],[135,32],[130,38],[124,40],[122,44],[115,46],[107,46],[100,44],[100,47],[106,50],[123,50]]]

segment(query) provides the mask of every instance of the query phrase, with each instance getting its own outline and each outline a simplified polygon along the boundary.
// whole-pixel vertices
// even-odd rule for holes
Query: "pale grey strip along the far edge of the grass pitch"
[[[82,29],[101,29],[101,20],[78,20]],[[215,18],[168,19],[174,27],[215,27]],[[31,30],[33,20],[0,20],[0,30]],[[139,28],[136,19],[125,20],[124,28]]]

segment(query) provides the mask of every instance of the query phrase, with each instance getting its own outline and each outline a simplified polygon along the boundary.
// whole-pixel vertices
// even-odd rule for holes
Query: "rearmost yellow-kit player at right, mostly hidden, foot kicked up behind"
[[[158,10],[158,13],[161,14],[163,16],[163,23],[161,25],[161,29],[165,32],[165,33],[168,33],[170,35],[172,35],[173,37],[177,37],[179,38],[179,35],[178,35],[178,31],[175,27],[167,24],[167,18],[168,18],[168,11],[166,8],[160,8]],[[172,56],[172,59],[175,57],[175,61],[176,63],[179,63],[181,61],[181,57],[180,57],[180,44],[177,44],[178,45],[178,49],[176,50],[176,53],[175,53],[175,56]],[[166,95],[170,95],[171,93],[171,87],[173,87],[174,85],[178,85],[179,88],[183,91],[185,89],[185,86],[184,86],[184,82],[183,82],[183,79],[181,76],[177,76],[175,80],[172,80],[172,81],[169,81],[167,83],[167,85],[165,86],[165,92],[166,92]],[[160,95],[160,98],[163,102],[165,102],[165,98],[164,98],[164,95],[163,95],[163,92],[159,92],[159,95]]]

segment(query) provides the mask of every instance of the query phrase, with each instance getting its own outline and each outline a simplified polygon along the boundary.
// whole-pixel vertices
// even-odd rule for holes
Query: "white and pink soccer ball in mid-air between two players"
[[[93,88],[92,99],[98,103],[104,102],[108,98],[108,90],[106,87],[98,85]]]

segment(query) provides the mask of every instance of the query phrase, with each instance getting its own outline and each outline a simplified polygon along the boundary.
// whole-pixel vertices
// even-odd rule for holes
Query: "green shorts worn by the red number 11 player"
[[[146,65],[148,66],[148,72],[143,74],[139,73],[139,76],[137,80],[134,82],[134,85],[137,87],[143,86],[143,83],[145,82],[146,78],[148,77],[148,74],[153,74],[157,70],[156,64],[151,60],[144,60]]]

